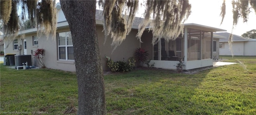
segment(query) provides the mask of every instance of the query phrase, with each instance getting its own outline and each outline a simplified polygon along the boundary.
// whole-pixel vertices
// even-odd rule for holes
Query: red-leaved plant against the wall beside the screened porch
[[[146,60],[147,60],[147,56],[149,55],[148,54],[148,51],[145,51],[144,49],[142,48],[137,48],[135,53],[135,59],[141,63],[144,63]],[[141,65],[140,65],[141,66]]]

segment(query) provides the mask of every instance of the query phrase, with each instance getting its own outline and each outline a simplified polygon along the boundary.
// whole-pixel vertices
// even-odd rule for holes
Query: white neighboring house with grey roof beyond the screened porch
[[[220,39],[220,55],[232,55],[228,45],[230,33],[214,34],[226,37],[226,39]],[[244,38],[233,34],[232,50],[234,56],[256,56],[256,39]]]

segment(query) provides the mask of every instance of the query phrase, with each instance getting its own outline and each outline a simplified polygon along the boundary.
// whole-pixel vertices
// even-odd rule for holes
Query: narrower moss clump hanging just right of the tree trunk
[[[132,29],[134,14],[138,10],[138,0],[99,0],[98,5],[104,9],[105,42],[110,35],[113,39],[111,45],[116,49]]]

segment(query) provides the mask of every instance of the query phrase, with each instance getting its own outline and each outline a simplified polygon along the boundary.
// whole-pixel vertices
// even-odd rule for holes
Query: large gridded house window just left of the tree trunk
[[[71,32],[58,33],[58,57],[60,60],[74,60]]]

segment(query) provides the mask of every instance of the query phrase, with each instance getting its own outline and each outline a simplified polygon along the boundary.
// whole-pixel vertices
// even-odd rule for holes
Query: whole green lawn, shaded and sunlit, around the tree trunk
[[[234,64],[193,75],[163,69],[105,75],[108,114],[255,115],[256,59],[241,58],[238,59],[247,70]],[[78,95],[74,73],[53,69],[17,71],[2,63],[0,69],[1,112],[76,115]]]

